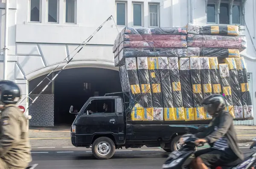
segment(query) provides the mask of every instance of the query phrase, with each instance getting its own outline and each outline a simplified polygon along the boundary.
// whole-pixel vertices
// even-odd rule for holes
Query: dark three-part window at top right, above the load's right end
[[[241,24],[241,6],[239,1],[235,1],[230,16],[230,4],[227,1],[221,1],[219,14],[217,14],[217,3],[209,0],[207,4],[207,23],[216,24]]]

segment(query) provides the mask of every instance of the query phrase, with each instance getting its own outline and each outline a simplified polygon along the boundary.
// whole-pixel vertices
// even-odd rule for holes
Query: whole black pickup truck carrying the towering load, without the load
[[[100,110],[102,109],[102,110]],[[70,107],[73,113],[73,106]],[[131,121],[128,93],[108,93],[91,97],[77,113],[71,126],[76,147],[92,147],[98,159],[109,159],[122,147],[161,147],[166,152],[179,149],[179,138],[187,131],[196,133],[204,121]]]

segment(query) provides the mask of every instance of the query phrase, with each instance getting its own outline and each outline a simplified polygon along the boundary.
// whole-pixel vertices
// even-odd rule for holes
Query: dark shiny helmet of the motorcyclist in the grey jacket
[[[227,101],[224,96],[219,94],[212,94],[204,98],[202,103],[208,111],[218,113],[224,110],[227,106]],[[208,112],[209,113],[209,112]]]

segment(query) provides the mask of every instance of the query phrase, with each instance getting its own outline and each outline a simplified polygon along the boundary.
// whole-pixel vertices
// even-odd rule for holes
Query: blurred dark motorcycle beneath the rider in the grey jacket
[[[195,158],[197,147],[204,146],[203,143],[195,144],[198,138],[192,134],[182,136],[183,146],[178,151],[170,153],[163,163],[163,169],[190,169],[190,163]],[[253,139],[250,149],[243,152],[244,160],[236,160],[222,166],[212,166],[210,169],[254,169],[256,166],[256,138]]]

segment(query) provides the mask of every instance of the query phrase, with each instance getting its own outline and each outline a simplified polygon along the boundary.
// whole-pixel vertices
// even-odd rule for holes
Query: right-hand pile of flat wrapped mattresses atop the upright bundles
[[[187,25],[188,56],[239,57],[246,46],[236,25]]]

